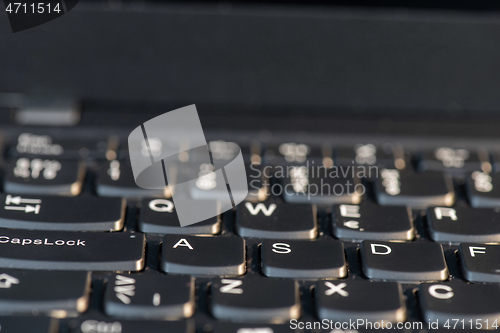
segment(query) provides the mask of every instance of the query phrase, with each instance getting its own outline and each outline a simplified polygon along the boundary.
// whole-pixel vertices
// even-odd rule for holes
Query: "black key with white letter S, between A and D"
[[[266,240],[261,255],[262,272],[269,277],[338,279],[347,274],[344,245],[338,240]]]

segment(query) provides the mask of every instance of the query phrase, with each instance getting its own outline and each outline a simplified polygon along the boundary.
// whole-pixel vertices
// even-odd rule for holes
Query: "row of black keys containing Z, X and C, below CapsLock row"
[[[88,309],[90,273],[2,272],[2,315],[36,312],[64,318],[76,317]],[[38,281],[46,288],[39,288]],[[64,288],[58,285],[58,281],[65,281]],[[113,274],[106,284],[103,310],[106,315],[117,318],[113,322],[119,322],[118,318],[182,320],[192,317],[196,311],[195,289],[194,278],[188,276]],[[276,324],[298,320],[302,316],[299,284],[293,280],[217,278],[210,283],[209,293],[210,314],[221,321]],[[316,317],[320,320],[349,322],[363,319],[366,322],[396,323],[407,319],[402,287],[396,282],[318,281],[312,293]],[[417,297],[424,322],[438,320],[444,325],[447,320],[473,318],[489,319],[493,325],[494,320],[500,320],[497,302],[500,290],[495,285],[424,283],[419,286]],[[95,319],[83,319],[79,329],[93,332],[94,324]]]

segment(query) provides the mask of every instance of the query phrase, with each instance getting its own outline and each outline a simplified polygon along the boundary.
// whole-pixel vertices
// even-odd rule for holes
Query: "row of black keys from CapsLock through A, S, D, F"
[[[75,233],[4,229],[0,267],[41,270],[141,271],[144,234]],[[247,272],[246,246],[236,236],[166,235],[161,268],[195,276],[239,276]],[[333,239],[266,240],[261,271],[267,277],[339,279],[348,274],[343,243]],[[443,281],[448,268],[440,244],[363,241],[362,270],[369,279]],[[500,245],[462,243],[462,273],[472,282],[500,282]]]

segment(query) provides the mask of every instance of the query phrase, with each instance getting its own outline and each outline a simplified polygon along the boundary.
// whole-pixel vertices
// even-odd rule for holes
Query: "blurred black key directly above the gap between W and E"
[[[357,204],[366,191],[356,178],[355,169],[351,166],[348,168],[342,172],[337,167],[277,166],[274,178],[281,181],[283,189],[280,192],[285,201],[290,203]],[[272,192],[276,194],[274,186]]]

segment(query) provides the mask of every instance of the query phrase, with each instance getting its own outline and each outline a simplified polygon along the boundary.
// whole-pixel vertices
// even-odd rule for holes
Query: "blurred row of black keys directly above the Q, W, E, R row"
[[[332,167],[306,168],[302,166],[277,167],[267,169],[259,165],[247,166],[249,194],[253,202],[264,201],[269,195],[283,197],[290,203],[316,204],[358,204],[367,192],[366,183],[359,177],[373,180],[376,200],[381,205],[403,205],[412,208],[427,206],[451,206],[456,195],[449,175],[440,171],[413,173],[398,169],[374,169],[373,173],[362,174],[355,169]],[[179,172],[169,174],[182,177]],[[370,169],[371,170],[371,169]],[[76,196],[82,192],[85,166],[74,160],[29,159],[21,157],[6,165],[4,189],[7,193],[52,194]],[[269,176],[275,181],[271,182]],[[214,184],[224,179],[217,179]],[[179,179],[172,180],[180,181]],[[193,198],[223,200],[227,196],[226,187],[214,190],[204,187],[203,182],[194,182],[190,189]],[[500,175],[475,171],[466,180],[468,200],[473,207],[500,206]],[[170,197],[171,191],[163,189],[145,190],[135,184],[128,161],[113,160],[102,165],[97,175],[95,192],[105,197]],[[207,193],[206,193],[207,192]]]

